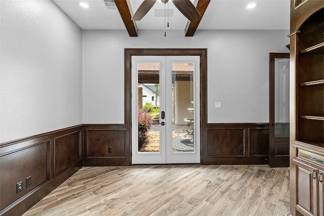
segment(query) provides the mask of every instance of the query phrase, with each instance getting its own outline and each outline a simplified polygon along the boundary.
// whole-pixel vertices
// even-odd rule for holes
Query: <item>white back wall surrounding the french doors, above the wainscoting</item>
[[[270,52],[289,30],[83,30],[83,123],[124,123],[125,48],[207,48],[208,122],[268,122]],[[222,108],[215,108],[221,102]]]

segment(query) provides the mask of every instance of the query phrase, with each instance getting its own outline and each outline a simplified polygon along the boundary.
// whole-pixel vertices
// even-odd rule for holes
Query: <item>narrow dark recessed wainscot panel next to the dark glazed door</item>
[[[250,128],[249,152],[250,156],[269,155],[269,129]]]

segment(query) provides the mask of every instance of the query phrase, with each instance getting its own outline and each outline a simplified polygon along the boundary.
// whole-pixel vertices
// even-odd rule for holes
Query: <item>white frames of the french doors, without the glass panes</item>
[[[172,62],[194,62],[194,151],[193,152],[173,152],[172,151],[172,104],[168,107],[160,107],[160,111],[166,111],[166,126],[161,126],[160,136],[162,143],[166,145],[160,146],[159,153],[138,153],[138,128],[137,126],[137,63],[138,62],[160,62],[160,71],[168,69],[172,71]],[[161,164],[161,163],[200,163],[200,57],[199,56],[132,56],[132,164]],[[166,73],[166,76],[160,77],[161,83],[164,79],[172,80],[172,73]],[[170,84],[170,83],[169,83]],[[166,88],[166,96],[160,96],[160,105],[165,106],[163,101],[172,95],[171,88]],[[172,98],[172,97],[171,97]],[[136,114],[135,114],[136,113]],[[168,125],[169,123],[169,125]],[[166,135],[166,136],[165,136]],[[167,153],[169,152],[169,153]]]

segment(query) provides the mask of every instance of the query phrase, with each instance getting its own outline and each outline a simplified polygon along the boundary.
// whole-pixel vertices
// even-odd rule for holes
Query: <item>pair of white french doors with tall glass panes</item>
[[[199,56],[132,56],[132,164],[200,163]]]

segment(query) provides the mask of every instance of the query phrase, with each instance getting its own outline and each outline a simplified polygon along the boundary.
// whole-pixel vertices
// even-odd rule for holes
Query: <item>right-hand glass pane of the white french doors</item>
[[[193,63],[172,63],[172,145],[194,151]]]

